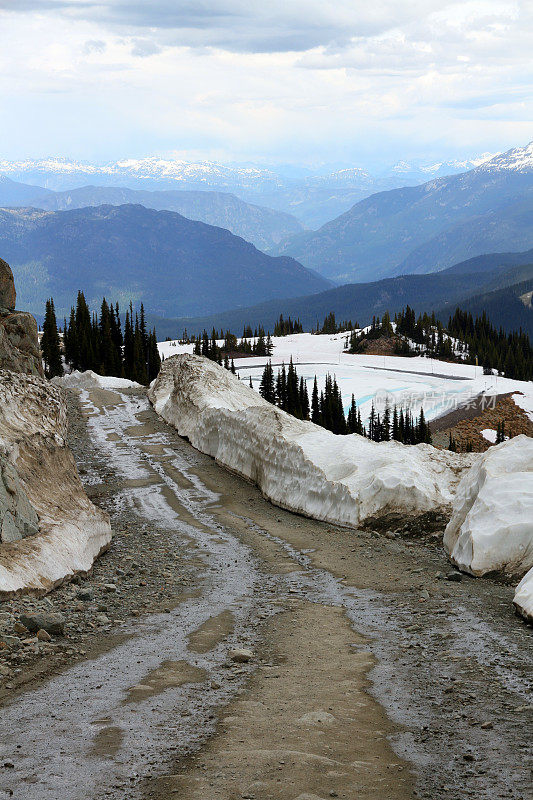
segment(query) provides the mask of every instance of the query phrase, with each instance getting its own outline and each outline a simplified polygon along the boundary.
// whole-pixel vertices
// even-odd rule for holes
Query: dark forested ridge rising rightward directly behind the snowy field
[[[238,333],[245,325],[256,327],[262,324],[266,330],[272,331],[280,314],[285,318],[299,318],[304,330],[311,330],[317,323],[322,324],[330,311],[335,313],[338,321],[351,319],[354,324],[367,325],[373,316],[381,316],[385,311],[394,314],[406,305],[417,312],[435,311],[443,321],[447,321],[458,304],[476,314],[482,313],[484,303],[490,302],[493,308],[498,299],[506,299],[510,307],[518,308],[515,299],[524,293],[522,284],[528,280],[533,280],[533,250],[491,253],[428,275],[402,275],[370,283],[347,284],[311,296],[270,300],[250,308],[194,319],[154,318],[152,322],[157,326],[160,338],[176,338],[185,328],[190,334],[213,327]],[[467,301],[471,301],[469,305]],[[529,320],[527,329],[533,336],[533,310],[529,309],[529,315],[529,310],[520,302],[520,309],[525,310],[520,321],[524,324]],[[516,319],[513,321],[512,314],[504,305],[494,316],[494,324],[504,324],[507,330],[514,330],[521,323]]]

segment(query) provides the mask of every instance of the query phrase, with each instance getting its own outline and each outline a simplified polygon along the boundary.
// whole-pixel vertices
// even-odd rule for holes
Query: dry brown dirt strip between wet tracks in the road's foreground
[[[298,602],[267,632],[269,665],[225,709],[218,735],[180,772],[155,781],[158,800],[413,797],[392,726],[367,693],[371,653],[340,609]],[[354,647],[355,645],[355,647]]]

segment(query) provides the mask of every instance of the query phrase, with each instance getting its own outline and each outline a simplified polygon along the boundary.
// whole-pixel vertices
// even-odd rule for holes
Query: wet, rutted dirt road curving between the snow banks
[[[49,598],[72,609],[65,657],[0,694],[0,797],[530,797],[533,640],[511,587],[273,507],[142,393],[81,401],[71,444],[116,536],[94,602]]]

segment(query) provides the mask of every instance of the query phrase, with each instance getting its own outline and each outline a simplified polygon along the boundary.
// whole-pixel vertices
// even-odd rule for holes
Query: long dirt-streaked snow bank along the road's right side
[[[429,445],[336,436],[275,408],[200,356],[167,359],[148,397],[194,447],[254,481],[272,502],[341,525],[449,507],[472,463]]]

